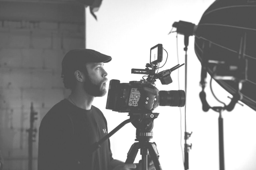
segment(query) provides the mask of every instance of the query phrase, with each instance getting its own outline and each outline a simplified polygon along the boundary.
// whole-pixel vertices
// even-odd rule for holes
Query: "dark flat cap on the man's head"
[[[62,60],[61,74],[65,75],[67,71],[75,71],[74,69],[84,67],[86,62],[106,63],[111,60],[112,58],[110,56],[92,49],[73,49],[68,51]]]

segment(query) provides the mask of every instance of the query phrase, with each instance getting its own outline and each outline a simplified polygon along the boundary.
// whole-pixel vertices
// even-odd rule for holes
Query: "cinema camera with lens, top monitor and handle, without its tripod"
[[[153,111],[158,106],[185,106],[184,90],[159,91],[154,86],[156,79],[165,85],[172,83],[170,73],[184,65],[178,64],[171,69],[155,73],[159,68],[159,63],[163,60],[163,50],[162,44],[155,45],[150,49],[150,63],[146,64],[146,69],[131,70],[132,74],[146,74],[146,80],[143,78],[144,76],[143,80],[129,83],[110,80],[106,109],[116,112],[146,113]]]

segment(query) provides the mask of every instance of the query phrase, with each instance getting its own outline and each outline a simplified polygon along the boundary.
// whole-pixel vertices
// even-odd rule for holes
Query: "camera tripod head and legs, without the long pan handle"
[[[162,170],[162,167],[159,162],[159,154],[156,148],[155,142],[150,142],[150,139],[153,138],[153,121],[159,113],[129,113],[130,118],[133,116],[141,115],[141,118],[138,121],[132,122],[133,126],[136,128],[136,139],[133,145],[131,146],[129,152],[127,153],[127,159],[125,163],[133,163],[138,150],[140,149],[140,154],[142,155],[142,170],[147,170],[148,156],[152,159],[156,170]]]

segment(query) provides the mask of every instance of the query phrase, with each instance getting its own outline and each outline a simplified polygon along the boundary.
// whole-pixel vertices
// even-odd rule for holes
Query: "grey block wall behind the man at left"
[[[22,170],[28,168],[30,103],[38,112],[38,129],[47,111],[69,95],[60,78],[61,60],[68,50],[85,47],[84,6],[0,1],[0,8],[0,149],[4,169]],[[38,133],[33,169],[37,151]]]

